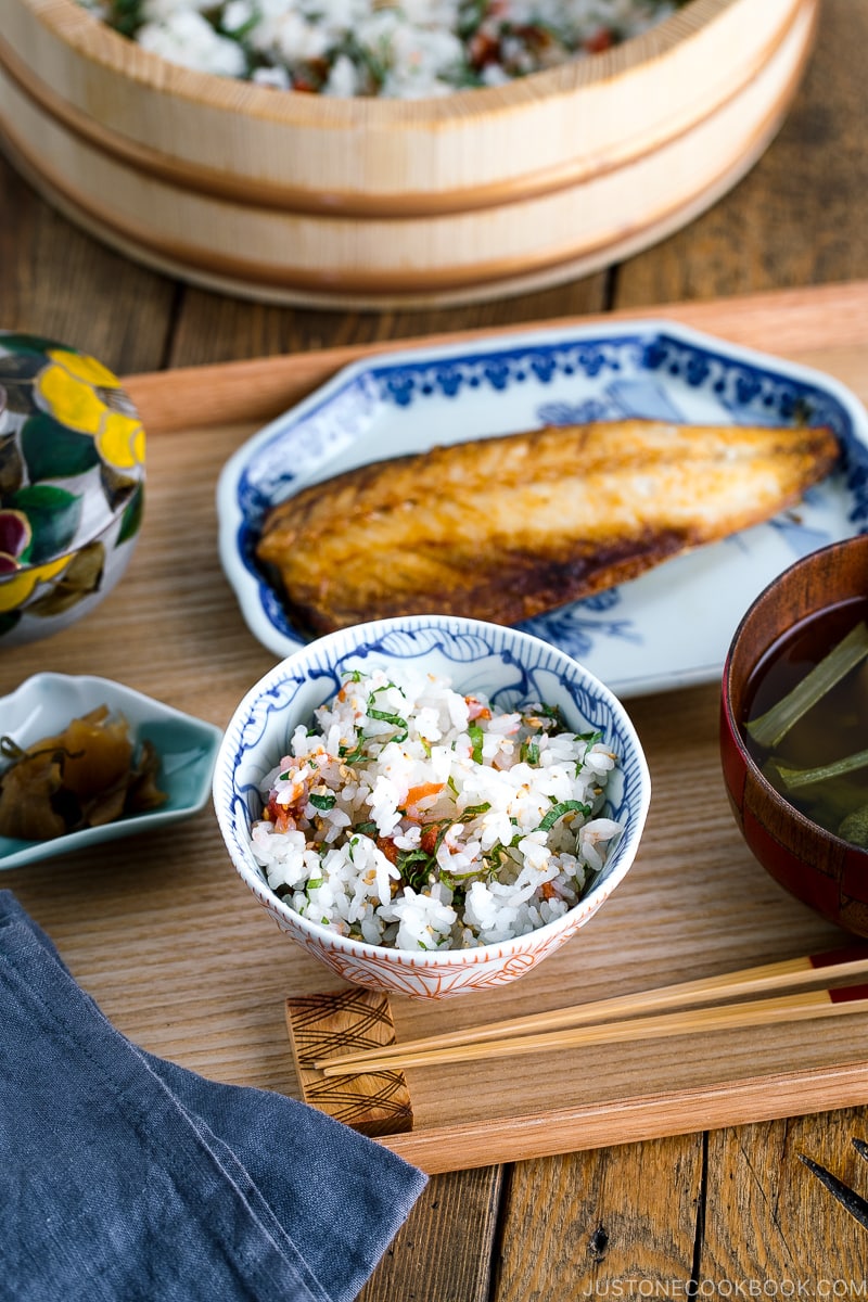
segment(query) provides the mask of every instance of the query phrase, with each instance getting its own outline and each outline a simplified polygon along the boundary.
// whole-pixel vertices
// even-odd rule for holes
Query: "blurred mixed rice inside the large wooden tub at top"
[[[81,0],[198,72],[350,98],[497,86],[608,49],[686,0]]]

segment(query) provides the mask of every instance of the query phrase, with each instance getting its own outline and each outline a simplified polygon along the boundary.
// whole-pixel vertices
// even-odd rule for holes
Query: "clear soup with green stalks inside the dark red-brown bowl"
[[[807,818],[868,848],[868,598],[789,630],[746,700],[742,732],[764,776]]]

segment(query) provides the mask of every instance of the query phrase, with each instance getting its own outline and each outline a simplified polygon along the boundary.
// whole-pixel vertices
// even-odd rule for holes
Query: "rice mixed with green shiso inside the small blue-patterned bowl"
[[[622,827],[617,756],[541,706],[375,668],[299,725],[263,786],[252,853],[271,889],[345,936],[466,949],[562,917]]]

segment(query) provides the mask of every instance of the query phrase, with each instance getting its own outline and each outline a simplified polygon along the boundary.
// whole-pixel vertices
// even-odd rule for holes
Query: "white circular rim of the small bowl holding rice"
[[[424,629],[435,629],[442,633],[480,633],[488,635],[496,631],[497,635],[511,642],[513,647],[518,643],[519,647],[524,647],[526,650],[536,648],[544,652],[549,659],[548,667],[554,668],[558,677],[571,677],[574,682],[580,682],[590,690],[595,700],[600,700],[608,706],[619,728],[618,740],[626,743],[626,746],[622,746],[623,754],[618,754],[616,772],[625,773],[625,760],[629,754],[630,764],[635,769],[636,776],[638,801],[635,816],[623,822],[621,836],[614,850],[612,852],[610,858],[606,857],[600,880],[597,880],[587,894],[580,896],[576,904],[560,918],[508,940],[491,941],[485,945],[472,945],[466,949],[432,949],[416,953],[415,950],[398,949],[393,945],[375,945],[370,941],[358,940],[353,936],[342,936],[331,927],[325,927],[321,923],[312,922],[310,918],[305,918],[292,906],[286,905],[285,901],[271,889],[264,876],[260,875],[260,870],[254,863],[250,849],[250,829],[239,832],[237,820],[233,816],[236,801],[243,805],[243,797],[234,786],[236,769],[230,767],[229,760],[238,750],[245,724],[252,717],[252,707],[260,702],[263,697],[267,697],[268,693],[272,691],[280,682],[286,681],[286,678],[292,676],[292,668],[294,665],[303,664],[318,651],[331,651],[333,647],[346,642],[347,637],[351,639],[351,644],[346,647],[346,656],[344,659],[357,654],[359,647],[363,647],[366,641],[376,634],[384,634],[388,631],[400,633],[402,630],[418,631]],[[383,660],[387,660],[385,655],[383,655],[379,661],[375,661],[372,658],[372,668],[380,667]],[[514,660],[521,665],[524,658],[514,655]],[[305,673],[301,681],[310,681],[308,674]],[[461,690],[461,684],[455,685],[455,690]],[[328,699],[331,698],[325,697],[323,703]],[[571,727],[569,719],[566,723]],[[286,734],[286,745],[289,745],[289,740],[290,734]],[[604,740],[612,741],[613,738]],[[252,747],[249,747],[249,750],[251,749]],[[271,764],[271,768],[273,768],[278,760],[280,756],[277,756],[275,763]],[[575,923],[576,919],[580,924],[582,915],[593,915],[608,896],[612,894],[614,888],[623,880],[632,866],[648,816],[648,807],[651,803],[651,775],[642,742],[622,702],[600,678],[591,673],[590,669],[586,669],[579,660],[575,660],[573,656],[561,651],[558,647],[554,647],[552,643],[544,642],[541,638],[537,638],[531,633],[526,633],[522,629],[492,625],[481,620],[458,616],[439,617],[436,615],[420,615],[406,618],[394,617],[387,620],[372,620],[366,624],[354,625],[351,629],[340,629],[336,633],[329,633],[324,637],[316,638],[314,642],[310,642],[307,646],[294,651],[292,655],[286,656],[286,659],[273,665],[245,694],[226,725],[223,741],[217,750],[212,794],[220,832],[233,866],[245,884],[268,911],[280,914],[284,921],[292,923],[292,926],[294,926],[298,931],[310,935],[314,940],[319,941],[320,945],[332,950],[340,950],[345,954],[351,954],[359,960],[383,961],[385,958],[387,962],[413,969],[444,967],[449,965],[466,967],[493,960],[508,960],[515,953],[527,950],[528,944],[534,948],[544,947],[547,939],[566,930]],[[264,872],[264,870],[262,871]]]

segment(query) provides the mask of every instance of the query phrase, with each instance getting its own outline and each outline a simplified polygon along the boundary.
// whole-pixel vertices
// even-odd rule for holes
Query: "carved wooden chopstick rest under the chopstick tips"
[[[305,1103],[362,1134],[413,1130],[413,1105],[400,1068],[338,1072],[324,1077],[314,1059],[347,1044],[368,1055],[394,1044],[394,1023],[385,995],[346,990],[286,1000],[286,1029]]]

